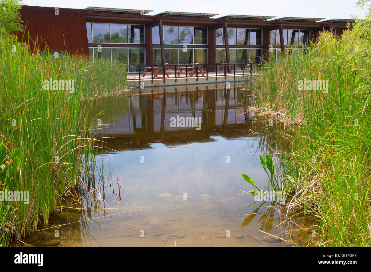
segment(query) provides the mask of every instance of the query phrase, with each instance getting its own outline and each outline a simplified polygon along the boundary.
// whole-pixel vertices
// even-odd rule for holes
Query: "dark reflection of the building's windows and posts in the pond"
[[[129,95],[128,111],[105,114],[106,125],[96,136],[160,132],[161,139],[165,132],[196,132],[195,128],[171,127],[171,118],[177,115],[201,118],[201,132],[244,124],[252,119],[248,106],[248,91],[240,88]]]

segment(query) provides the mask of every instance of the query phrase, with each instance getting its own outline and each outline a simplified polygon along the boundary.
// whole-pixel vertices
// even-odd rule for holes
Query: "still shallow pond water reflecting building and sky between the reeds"
[[[248,90],[215,85],[138,89],[94,101],[92,133],[103,141],[96,180],[77,193],[81,198],[67,199],[45,230],[26,242],[292,246],[314,241],[310,235],[303,239],[310,218],[285,221],[280,205],[255,202],[246,193],[254,188],[241,174],[268,189],[259,155],[274,141],[266,122],[249,111],[251,102]],[[199,118],[200,130],[174,127],[177,115]]]

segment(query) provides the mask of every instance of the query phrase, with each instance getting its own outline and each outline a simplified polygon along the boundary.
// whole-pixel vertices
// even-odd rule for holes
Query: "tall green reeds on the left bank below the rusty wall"
[[[29,204],[0,201],[0,245],[6,246],[47,224],[84,163],[93,163],[84,159],[94,150],[86,137],[89,99],[124,90],[126,71],[104,60],[33,54],[2,34],[0,41],[0,191],[30,192]],[[74,92],[45,90],[50,78],[74,80]]]

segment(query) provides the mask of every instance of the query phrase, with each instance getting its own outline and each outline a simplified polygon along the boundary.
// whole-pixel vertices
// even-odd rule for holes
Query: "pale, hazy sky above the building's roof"
[[[227,3],[227,5],[225,4]],[[109,7],[117,9],[153,10],[148,15],[162,11],[197,13],[260,15],[280,17],[311,17],[324,19],[349,19],[352,15],[363,18],[366,9],[357,7],[357,0],[23,0],[24,5],[45,7]]]

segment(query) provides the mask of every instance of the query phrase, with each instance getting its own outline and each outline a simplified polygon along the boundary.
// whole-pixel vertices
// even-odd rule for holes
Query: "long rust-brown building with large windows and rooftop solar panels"
[[[20,41],[44,50],[117,59],[129,65],[260,63],[300,50],[319,31],[341,34],[351,19],[227,15],[87,7],[23,6]]]

